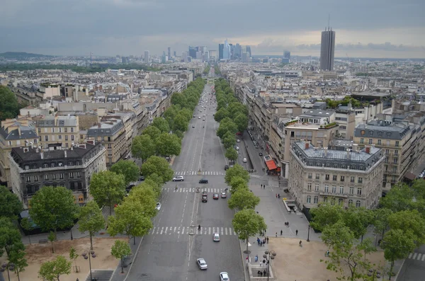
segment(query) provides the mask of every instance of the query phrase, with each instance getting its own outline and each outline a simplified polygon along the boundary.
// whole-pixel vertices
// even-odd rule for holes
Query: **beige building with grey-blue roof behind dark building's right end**
[[[86,139],[101,142],[106,148],[106,168],[128,155],[125,126],[122,120],[109,119],[87,130]]]

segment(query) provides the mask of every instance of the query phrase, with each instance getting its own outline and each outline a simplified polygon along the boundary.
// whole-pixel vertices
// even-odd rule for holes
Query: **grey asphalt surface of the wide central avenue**
[[[206,96],[211,86],[205,86]],[[214,113],[214,103],[197,106],[181,154],[172,166],[175,176],[183,176],[184,181],[164,186],[162,209],[142,241],[128,280],[220,280],[222,271],[229,273],[232,281],[244,280],[239,240],[232,228],[234,212],[227,207],[227,199],[212,200],[213,193],[220,194],[227,187],[226,160],[215,134],[218,123]],[[198,183],[201,178],[208,183]],[[200,193],[196,193],[197,187]],[[203,190],[208,193],[208,202],[201,202]],[[214,232],[220,234],[220,242],[212,241]],[[205,259],[208,270],[198,268],[197,258]]]

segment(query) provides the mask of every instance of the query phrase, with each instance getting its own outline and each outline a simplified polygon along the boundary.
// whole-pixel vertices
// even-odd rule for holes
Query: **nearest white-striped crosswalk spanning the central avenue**
[[[201,226],[198,230],[197,226],[154,226],[149,231],[150,235],[212,235],[218,233],[220,235],[237,235],[232,227],[215,227]]]

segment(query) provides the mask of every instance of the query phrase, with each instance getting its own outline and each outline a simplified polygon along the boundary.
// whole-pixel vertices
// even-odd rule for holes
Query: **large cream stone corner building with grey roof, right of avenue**
[[[382,196],[384,161],[377,147],[341,151],[294,142],[288,188],[303,211],[321,202],[374,209]]]

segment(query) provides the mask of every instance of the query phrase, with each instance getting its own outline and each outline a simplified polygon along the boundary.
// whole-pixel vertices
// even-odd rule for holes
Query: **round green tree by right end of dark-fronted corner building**
[[[94,173],[90,180],[90,194],[99,207],[108,206],[109,214],[125,196],[125,179],[111,171]]]

